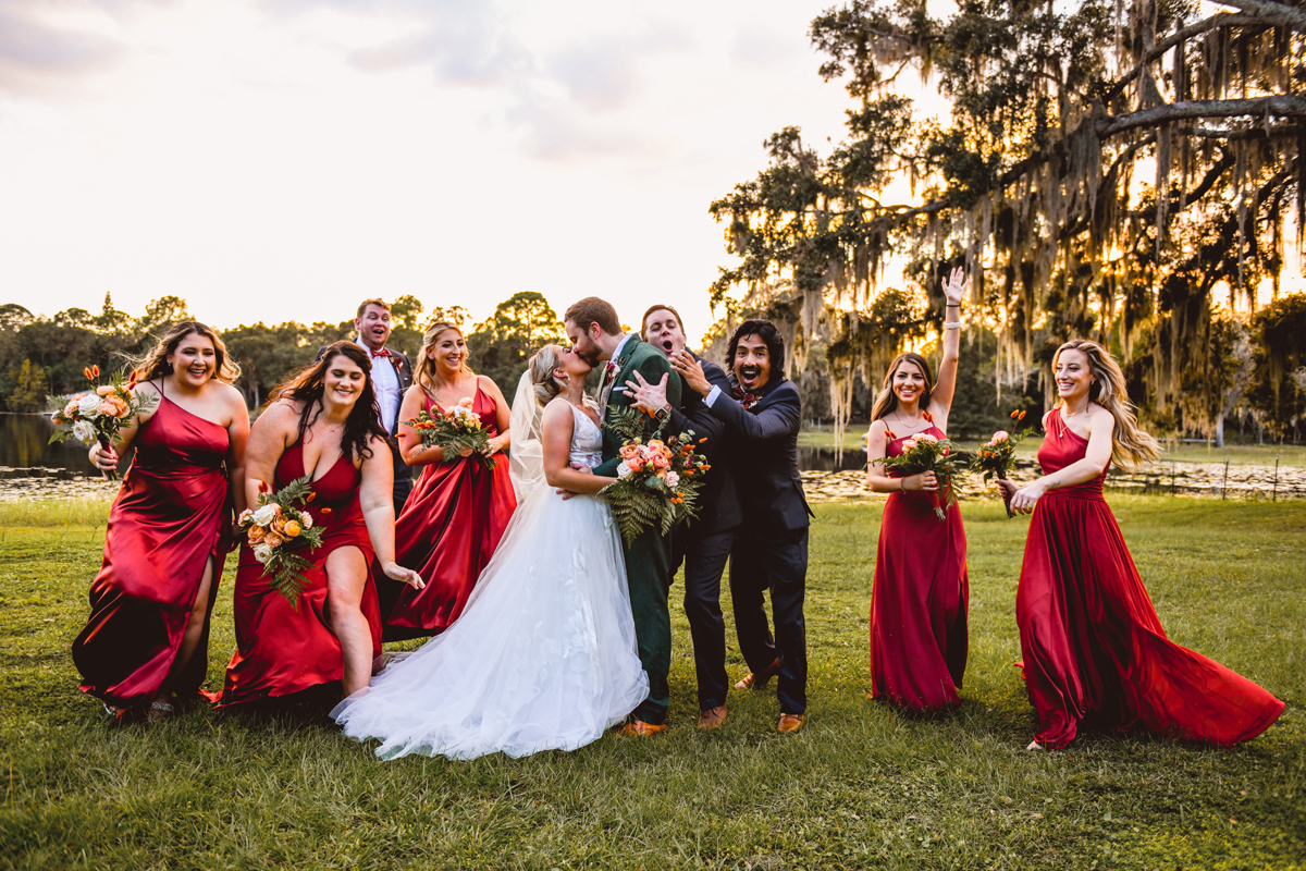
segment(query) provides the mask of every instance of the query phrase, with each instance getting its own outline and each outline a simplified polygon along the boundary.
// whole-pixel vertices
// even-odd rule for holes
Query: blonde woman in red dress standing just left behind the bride
[[[402,423],[421,411],[438,417],[469,400],[490,436],[485,456],[470,451],[449,456],[439,445],[423,447],[421,432]],[[508,404],[492,379],[468,366],[466,341],[453,324],[436,321],[423,334],[400,420],[404,461],[423,469],[394,522],[394,552],[405,565],[417,567],[427,586],[413,589],[377,577],[387,641],[438,635],[458,619],[517,507],[503,453],[511,439]]]

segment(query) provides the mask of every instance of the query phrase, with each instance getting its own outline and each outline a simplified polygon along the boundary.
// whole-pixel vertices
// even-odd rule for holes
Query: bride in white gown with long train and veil
[[[584,394],[589,371],[556,345],[530,358],[512,409],[524,500],[466,609],[332,710],[346,735],[380,739],[377,756],[576,750],[648,695],[620,537],[593,496],[611,478],[569,467],[599,464],[598,415]],[[542,449],[534,457],[532,431]],[[555,487],[584,495],[564,500]]]

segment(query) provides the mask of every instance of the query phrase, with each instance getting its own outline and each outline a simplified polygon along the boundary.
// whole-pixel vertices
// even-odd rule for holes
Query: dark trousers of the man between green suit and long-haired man
[[[671,575],[684,562],[684,615],[693,639],[699,678],[699,710],[726,704],[726,622],[721,616],[721,576],[730,559],[734,530],[693,535],[684,526],[671,533]]]

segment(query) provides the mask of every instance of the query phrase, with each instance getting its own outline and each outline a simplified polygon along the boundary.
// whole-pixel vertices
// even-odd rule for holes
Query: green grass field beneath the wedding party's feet
[[[996,503],[965,504],[970,665],[963,705],[944,717],[867,701],[879,505],[824,504],[808,575],[810,720],[797,735],[776,734],[774,696],[752,692],[731,695],[724,729],[692,729],[678,602],[673,725],[656,739],[379,763],[323,703],[111,727],[76,691],[68,654],[104,507],[3,505],[0,867],[1306,867],[1306,501],[1114,507],[1170,635],[1288,701],[1263,736],[1218,751],[1089,735],[1024,752],[1034,718],[1011,663],[1028,521]],[[210,687],[231,648],[227,586]],[[744,670],[734,652],[729,667]]]

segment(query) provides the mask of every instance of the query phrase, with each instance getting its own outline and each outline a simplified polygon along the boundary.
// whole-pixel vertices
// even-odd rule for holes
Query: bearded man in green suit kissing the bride
[[[596,475],[616,477],[620,462],[620,439],[607,427],[618,409],[635,405],[626,383],[639,372],[645,381],[657,384],[671,372],[671,364],[656,347],[641,342],[639,336],[622,330],[622,321],[610,303],[597,296],[586,296],[567,309],[564,316],[567,338],[576,354],[594,368],[606,362],[599,383],[598,406],[603,420],[603,462],[594,469]],[[667,402],[680,404],[680,379],[667,379]],[[665,419],[649,420],[645,437]],[[671,670],[671,614],[667,593],[671,589],[671,541],[660,529],[650,526],[640,533],[626,548],[626,580],[631,589],[631,611],[635,616],[635,639],[640,649],[640,665],[649,676],[649,696],[631,714],[623,735],[656,735],[666,731],[666,705],[670,700],[667,673]]]

